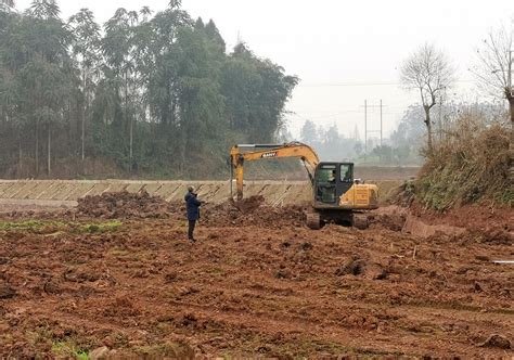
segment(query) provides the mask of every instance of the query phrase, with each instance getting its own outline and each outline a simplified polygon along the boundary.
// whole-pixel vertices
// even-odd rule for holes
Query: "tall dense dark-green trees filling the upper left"
[[[55,0],[14,7],[0,0],[0,176],[216,176],[233,143],[284,126],[298,79],[245,43],[228,53],[180,0],[103,26]]]

